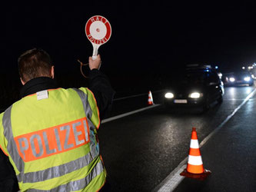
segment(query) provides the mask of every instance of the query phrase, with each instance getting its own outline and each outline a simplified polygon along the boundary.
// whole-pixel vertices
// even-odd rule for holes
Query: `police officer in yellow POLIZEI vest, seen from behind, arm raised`
[[[21,191],[98,191],[106,187],[99,154],[100,117],[115,91],[89,58],[89,88],[58,88],[48,53],[34,48],[18,58],[22,99],[0,114],[0,147]],[[105,185],[105,186],[104,186]]]

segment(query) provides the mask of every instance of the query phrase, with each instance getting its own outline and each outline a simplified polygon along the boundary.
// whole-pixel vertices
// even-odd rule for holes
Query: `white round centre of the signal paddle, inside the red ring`
[[[101,38],[105,38],[107,28],[103,22],[92,22],[90,26],[90,33],[93,38],[100,40]]]

